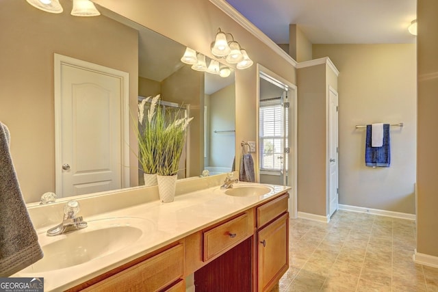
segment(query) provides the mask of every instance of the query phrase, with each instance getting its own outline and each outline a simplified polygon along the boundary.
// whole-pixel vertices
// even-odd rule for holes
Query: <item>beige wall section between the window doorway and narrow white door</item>
[[[298,69],[298,211],[326,215],[326,64]]]

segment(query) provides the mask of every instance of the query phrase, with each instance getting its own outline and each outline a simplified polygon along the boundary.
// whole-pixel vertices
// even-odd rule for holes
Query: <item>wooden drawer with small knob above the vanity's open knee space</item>
[[[253,233],[248,213],[235,217],[203,233],[203,261],[209,261]]]

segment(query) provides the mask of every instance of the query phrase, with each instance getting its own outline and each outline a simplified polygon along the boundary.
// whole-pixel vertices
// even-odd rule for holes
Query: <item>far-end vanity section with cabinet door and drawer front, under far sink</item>
[[[270,291],[289,268],[288,198],[257,207],[257,291]]]

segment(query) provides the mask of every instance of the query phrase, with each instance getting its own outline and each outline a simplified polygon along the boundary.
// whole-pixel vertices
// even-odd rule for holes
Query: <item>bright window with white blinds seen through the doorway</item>
[[[259,128],[260,128],[260,168],[261,170],[283,170],[283,150],[287,145],[287,129],[285,118],[287,111],[283,110],[281,99],[275,98],[269,101],[260,101]],[[287,125],[286,125],[287,127]],[[287,157],[286,157],[287,159]],[[287,161],[286,162],[287,165]]]

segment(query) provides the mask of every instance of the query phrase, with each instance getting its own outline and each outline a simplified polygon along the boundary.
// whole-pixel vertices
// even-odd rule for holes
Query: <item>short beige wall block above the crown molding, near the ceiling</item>
[[[312,44],[302,33],[299,25],[289,25],[289,55],[296,62],[305,62],[312,59]]]

